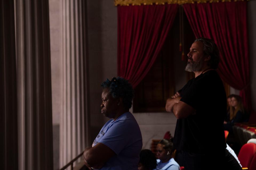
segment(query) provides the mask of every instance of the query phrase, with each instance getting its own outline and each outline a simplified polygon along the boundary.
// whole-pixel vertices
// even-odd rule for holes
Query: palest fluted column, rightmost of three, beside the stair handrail
[[[86,1],[61,1],[60,167],[88,146]]]

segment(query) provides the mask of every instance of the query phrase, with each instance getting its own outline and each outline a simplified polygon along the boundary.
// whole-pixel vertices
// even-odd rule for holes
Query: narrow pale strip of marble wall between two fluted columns
[[[51,89],[53,115],[53,166],[59,169],[59,114],[61,109],[60,77],[60,1],[49,0]]]

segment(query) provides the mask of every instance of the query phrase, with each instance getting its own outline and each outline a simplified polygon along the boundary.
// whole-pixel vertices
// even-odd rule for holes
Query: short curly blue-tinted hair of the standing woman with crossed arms
[[[134,90],[133,86],[128,82],[128,80],[122,77],[113,77],[111,81],[107,79],[106,81],[102,82],[101,86],[103,89],[109,89],[109,92],[113,98],[122,98],[125,109],[131,108]]]

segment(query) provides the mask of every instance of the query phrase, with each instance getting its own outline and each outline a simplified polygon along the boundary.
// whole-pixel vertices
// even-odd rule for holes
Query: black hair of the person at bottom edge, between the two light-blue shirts
[[[141,153],[139,154],[139,163],[141,163],[145,169],[155,169],[157,167],[155,154],[148,149],[141,150]]]

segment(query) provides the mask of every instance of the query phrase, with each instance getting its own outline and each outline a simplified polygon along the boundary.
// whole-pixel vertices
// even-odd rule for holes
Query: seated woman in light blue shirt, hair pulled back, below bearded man
[[[173,143],[170,139],[162,139],[157,144],[156,170],[179,170],[179,164],[172,158]]]

